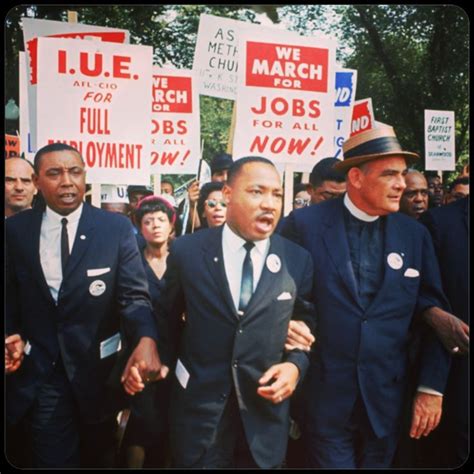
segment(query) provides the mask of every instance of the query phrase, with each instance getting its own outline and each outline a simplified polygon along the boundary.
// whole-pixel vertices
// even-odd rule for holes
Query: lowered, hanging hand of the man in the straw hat
[[[410,437],[428,436],[441,420],[443,397],[431,393],[416,392],[413,400]]]

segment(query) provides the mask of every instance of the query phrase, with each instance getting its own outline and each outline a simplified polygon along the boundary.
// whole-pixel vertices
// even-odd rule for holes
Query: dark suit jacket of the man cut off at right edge
[[[468,198],[447,206],[433,208],[422,214],[433,237],[441,269],[443,289],[453,314],[469,324],[469,243]],[[467,426],[468,420],[468,357],[453,357],[444,407],[450,422]]]

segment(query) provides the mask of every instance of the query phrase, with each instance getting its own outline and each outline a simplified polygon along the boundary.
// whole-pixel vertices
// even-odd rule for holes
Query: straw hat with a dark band
[[[410,163],[420,158],[416,153],[403,151],[393,127],[380,122],[377,128],[348,138],[342,145],[342,151],[344,161],[334,165],[339,171],[348,171],[353,166],[388,156],[402,156]]]

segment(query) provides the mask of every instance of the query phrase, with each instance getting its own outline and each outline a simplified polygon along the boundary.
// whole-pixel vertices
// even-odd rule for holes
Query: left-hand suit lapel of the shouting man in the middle
[[[222,251],[222,230],[223,226],[220,226],[215,232],[209,234],[210,238],[206,241],[206,247],[203,248],[203,258],[216,287],[221,293],[222,299],[228,306],[232,316],[238,319],[239,316],[234,306],[229,282],[227,281],[227,275],[225,273],[224,254]]]

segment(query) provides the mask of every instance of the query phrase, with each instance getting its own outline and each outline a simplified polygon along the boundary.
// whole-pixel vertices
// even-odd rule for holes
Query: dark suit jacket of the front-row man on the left
[[[141,257],[127,218],[84,203],[56,304],[40,262],[42,214],[6,220],[6,333],[31,344],[7,377],[7,416],[14,422],[25,413],[60,355],[81,416],[98,421],[111,409],[105,381],[117,359],[101,358],[100,343],[121,321],[133,346],[142,336],[157,339]],[[105,284],[100,295],[91,291],[97,280]]]

